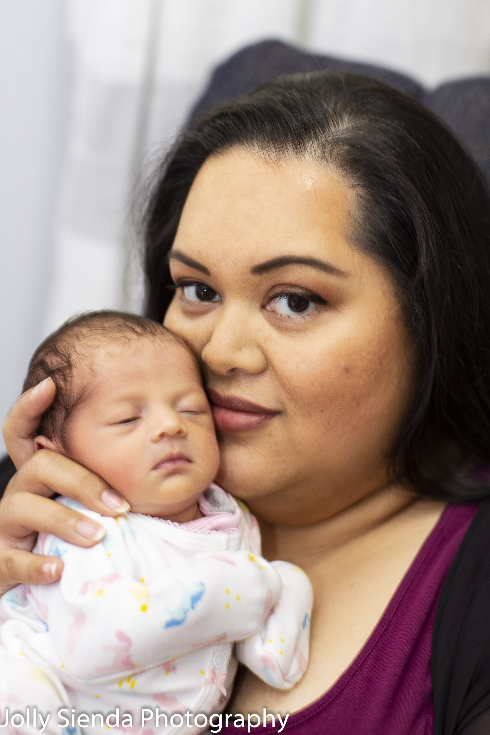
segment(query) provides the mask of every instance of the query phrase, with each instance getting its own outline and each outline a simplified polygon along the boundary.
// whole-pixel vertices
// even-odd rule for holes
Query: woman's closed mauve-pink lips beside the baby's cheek
[[[251,431],[258,429],[279,411],[270,409],[238,398],[234,395],[220,395],[212,388],[207,391],[211,403],[216,428],[220,431]]]

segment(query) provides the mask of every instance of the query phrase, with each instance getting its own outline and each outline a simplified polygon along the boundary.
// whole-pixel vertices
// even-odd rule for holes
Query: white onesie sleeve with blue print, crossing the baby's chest
[[[253,636],[281,595],[278,571],[248,551],[198,553],[166,567],[164,557],[146,580],[134,563],[138,549],[124,543],[127,524],[98,520],[108,532],[93,548],[41,539],[40,553],[62,556],[65,567],[60,582],[30,591],[60,667],[76,680],[109,681]]]

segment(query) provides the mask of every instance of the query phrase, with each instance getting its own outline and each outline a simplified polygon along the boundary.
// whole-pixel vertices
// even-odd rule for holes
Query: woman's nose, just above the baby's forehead
[[[217,375],[229,375],[237,370],[262,373],[267,358],[256,341],[253,318],[242,309],[220,309],[209,342],[201,352],[203,362]]]

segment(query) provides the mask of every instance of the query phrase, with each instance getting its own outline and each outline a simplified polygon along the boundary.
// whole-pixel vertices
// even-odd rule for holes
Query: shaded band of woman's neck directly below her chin
[[[262,553],[266,559],[284,559],[309,567],[315,558],[323,559],[325,554],[365,537],[418,498],[414,492],[389,484],[331,518],[309,526],[274,526],[259,519]]]

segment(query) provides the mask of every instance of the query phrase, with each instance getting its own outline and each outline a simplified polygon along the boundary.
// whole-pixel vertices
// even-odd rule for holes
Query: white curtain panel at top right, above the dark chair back
[[[433,87],[490,73],[489,0],[311,0],[309,45]]]

